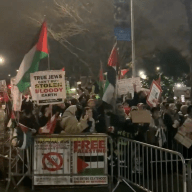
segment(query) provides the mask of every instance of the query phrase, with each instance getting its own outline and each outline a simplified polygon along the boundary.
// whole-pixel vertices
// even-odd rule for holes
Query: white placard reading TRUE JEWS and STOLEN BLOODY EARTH
[[[63,103],[66,98],[65,71],[38,71],[30,74],[31,94],[38,105]]]

